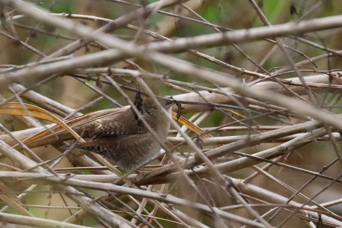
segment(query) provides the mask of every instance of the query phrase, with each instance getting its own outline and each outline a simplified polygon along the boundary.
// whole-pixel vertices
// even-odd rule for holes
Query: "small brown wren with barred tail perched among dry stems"
[[[170,113],[174,102],[157,97],[159,103]],[[135,102],[137,103],[137,102]],[[135,104],[146,122],[165,143],[170,122],[149,97]],[[114,121],[98,128],[91,141],[73,146],[75,149],[89,150],[102,155],[122,169],[134,170],[154,158],[161,145],[137,117],[132,108],[121,112]]]

